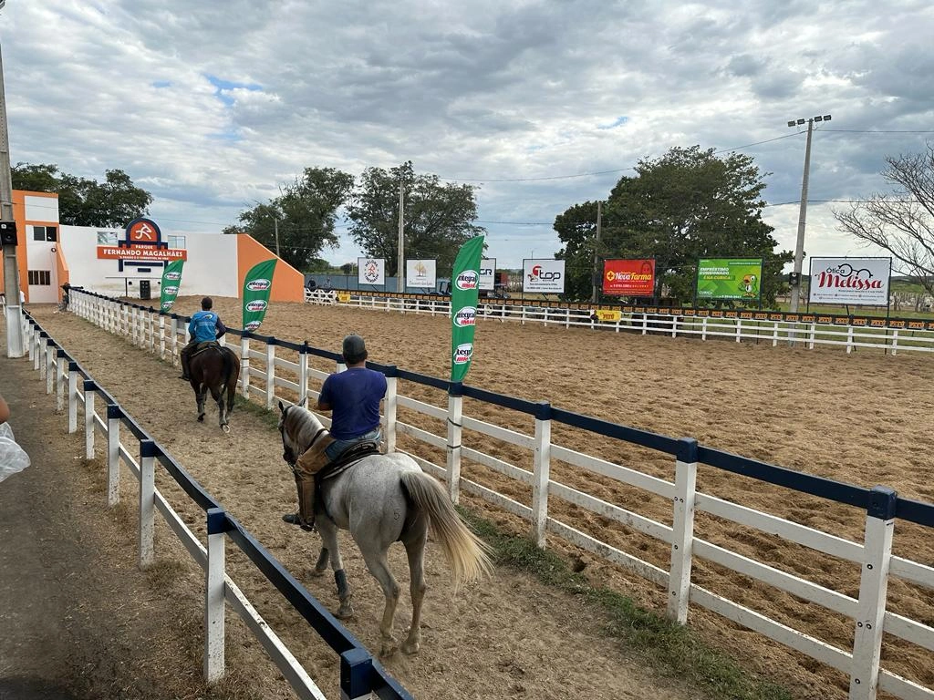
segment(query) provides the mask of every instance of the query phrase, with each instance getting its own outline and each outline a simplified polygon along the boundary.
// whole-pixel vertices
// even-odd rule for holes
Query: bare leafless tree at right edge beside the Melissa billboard
[[[833,216],[841,231],[891,253],[894,272],[934,294],[934,145],[885,162],[882,176],[895,191],[872,194]]]

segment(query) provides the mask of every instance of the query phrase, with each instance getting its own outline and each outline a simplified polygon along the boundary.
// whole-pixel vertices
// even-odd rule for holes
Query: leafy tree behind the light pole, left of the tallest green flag
[[[386,259],[386,273],[397,273],[399,189],[402,187],[404,254],[408,259],[437,259],[438,273],[450,273],[460,245],[485,230],[476,218],[474,187],[442,184],[437,175],[416,175],[412,161],[391,168],[367,168],[347,206],[357,245]]]

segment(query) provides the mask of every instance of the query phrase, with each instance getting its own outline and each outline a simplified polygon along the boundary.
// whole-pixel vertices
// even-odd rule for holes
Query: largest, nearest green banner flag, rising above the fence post
[[[474,358],[476,302],[480,294],[483,236],[460,246],[451,273],[451,381],[462,382]]]

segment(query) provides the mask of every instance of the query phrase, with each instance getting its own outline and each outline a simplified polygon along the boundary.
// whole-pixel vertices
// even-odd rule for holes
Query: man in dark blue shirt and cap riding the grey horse
[[[324,380],[318,396],[318,411],[331,411],[330,438],[323,451],[313,444],[295,463],[299,511],[282,516],[286,523],[310,530],[315,525],[315,474],[348,447],[366,441],[379,442],[379,402],[386,396],[386,377],[366,368],[366,344],[359,335],[344,339],[341,354],[347,371]],[[323,444],[323,442],[322,442]]]

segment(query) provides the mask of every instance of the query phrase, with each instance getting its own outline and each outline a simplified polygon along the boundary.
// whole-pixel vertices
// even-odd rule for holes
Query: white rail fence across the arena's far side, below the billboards
[[[450,315],[450,300],[432,294],[396,292],[309,291],[308,303],[380,309],[409,314]],[[602,316],[602,320],[601,320]],[[789,314],[745,309],[624,306],[567,301],[480,299],[477,320],[586,328],[642,335],[670,335],[708,340],[796,343],[799,347],[873,348],[898,355],[899,350],[934,351],[934,320],[862,315]]]

